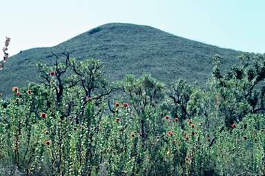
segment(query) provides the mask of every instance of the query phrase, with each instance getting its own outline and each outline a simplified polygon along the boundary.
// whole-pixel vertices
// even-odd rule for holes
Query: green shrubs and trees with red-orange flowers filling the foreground
[[[1,175],[265,174],[264,55],[227,71],[216,55],[203,90],[148,74],[112,84],[99,60],[54,56],[41,84],[0,99]]]

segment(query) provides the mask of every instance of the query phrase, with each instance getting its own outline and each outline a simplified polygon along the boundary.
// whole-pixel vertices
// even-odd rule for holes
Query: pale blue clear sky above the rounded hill
[[[264,17],[264,0],[0,0],[0,47],[10,37],[12,56],[120,22],[221,48],[264,53]]]

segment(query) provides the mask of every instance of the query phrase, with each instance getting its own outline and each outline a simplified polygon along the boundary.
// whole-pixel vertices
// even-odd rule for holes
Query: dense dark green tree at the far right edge
[[[248,113],[264,109],[265,60],[264,55],[245,53],[237,57],[239,66],[233,66],[224,75],[220,72],[222,57],[215,55],[212,91],[219,94],[219,111],[226,117],[226,126],[240,121]]]

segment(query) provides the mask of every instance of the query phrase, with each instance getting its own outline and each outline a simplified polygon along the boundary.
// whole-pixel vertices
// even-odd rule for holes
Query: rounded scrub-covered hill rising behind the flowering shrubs
[[[32,48],[10,57],[1,70],[0,92],[10,94],[13,86],[25,87],[39,81],[36,63],[52,65],[51,52],[66,50],[76,59],[100,59],[106,77],[122,80],[125,75],[149,72],[165,84],[183,77],[199,86],[211,75],[212,57],[224,57],[224,68],[232,66],[242,52],[184,39],[167,32],[129,23],[108,23],[50,48]]]

